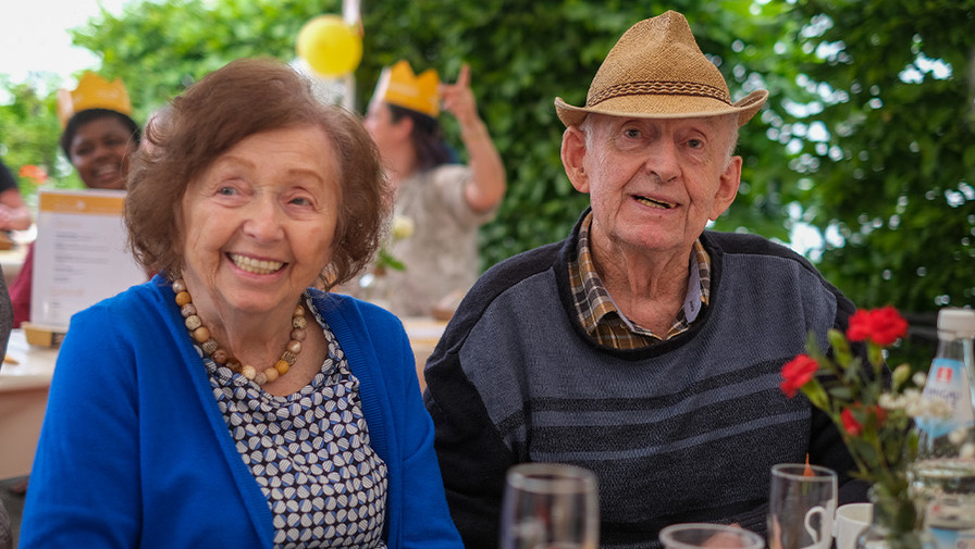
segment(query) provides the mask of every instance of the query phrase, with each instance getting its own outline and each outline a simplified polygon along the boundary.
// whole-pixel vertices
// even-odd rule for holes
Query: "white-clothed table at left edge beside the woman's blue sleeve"
[[[26,475],[34,463],[58,349],[27,345],[14,329],[0,366],[0,478]]]

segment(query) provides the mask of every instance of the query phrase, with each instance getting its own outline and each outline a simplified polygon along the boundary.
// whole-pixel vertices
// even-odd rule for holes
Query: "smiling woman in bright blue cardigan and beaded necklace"
[[[460,549],[403,324],[328,291],[391,208],[359,120],[244,59],[146,138],[125,223],[159,274],[72,319],[20,547]]]

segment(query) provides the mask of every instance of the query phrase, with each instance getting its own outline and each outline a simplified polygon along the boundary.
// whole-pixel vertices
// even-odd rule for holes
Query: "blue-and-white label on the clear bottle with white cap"
[[[922,398],[945,401],[949,415],[918,419],[918,427],[928,436],[941,437],[959,427],[972,425],[975,423],[975,414],[972,411],[971,395],[965,363],[952,359],[935,359]]]

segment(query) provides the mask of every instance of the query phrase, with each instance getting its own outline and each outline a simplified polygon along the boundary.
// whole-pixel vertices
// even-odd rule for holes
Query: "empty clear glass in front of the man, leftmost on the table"
[[[596,477],[563,463],[522,463],[508,470],[501,549],[596,549]]]

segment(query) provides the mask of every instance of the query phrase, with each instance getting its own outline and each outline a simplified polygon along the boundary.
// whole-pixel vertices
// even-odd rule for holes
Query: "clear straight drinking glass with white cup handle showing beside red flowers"
[[[832,470],[803,463],[774,465],[768,496],[768,548],[829,549],[836,498]]]

